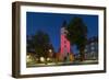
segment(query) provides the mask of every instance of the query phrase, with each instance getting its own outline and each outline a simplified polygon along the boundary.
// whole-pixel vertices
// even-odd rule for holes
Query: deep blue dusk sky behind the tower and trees
[[[37,31],[44,31],[50,37],[50,43],[53,45],[56,52],[60,47],[60,28],[63,21],[66,23],[74,18],[80,16],[87,25],[87,37],[98,36],[98,15],[86,14],[61,14],[61,13],[26,13],[26,35],[34,35]],[[75,50],[75,48],[73,49]]]

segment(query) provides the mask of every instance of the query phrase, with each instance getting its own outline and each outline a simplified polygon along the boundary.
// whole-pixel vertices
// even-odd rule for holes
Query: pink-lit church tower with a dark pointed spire
[[[71,53],[71,45],[70,41],[66,38],[68,31],[65,30],[66,22],[64,21],[61,27],[61,47],[60,47],[60,59],[62,60],[70,60],[73,57],[73,54]]]

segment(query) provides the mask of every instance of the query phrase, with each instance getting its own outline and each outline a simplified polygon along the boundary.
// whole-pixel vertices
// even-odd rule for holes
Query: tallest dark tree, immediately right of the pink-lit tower
[[[80,50],[81,61],[84,60],[84,49],[87,42],[87,26],[78,16],[74,16],[66,27],[66,37],[71,45],[76,45]]]

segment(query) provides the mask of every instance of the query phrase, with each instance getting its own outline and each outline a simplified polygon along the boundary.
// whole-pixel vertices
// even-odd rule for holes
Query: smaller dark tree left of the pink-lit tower
[[[48,34],[41,31],[38,31],[33,36],[33,44],[34,44],[35,53],[38,55],[38,57],[43,56],[47,58],[49,42],[50,39],[49,39]]]

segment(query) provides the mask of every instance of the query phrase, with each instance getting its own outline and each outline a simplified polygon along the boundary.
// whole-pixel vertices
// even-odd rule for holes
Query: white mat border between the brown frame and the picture
[[[99,64],[85,66],[61,66],[26,68],[26,12],[70,13],[70,14],[97,14],[99,16]],[[89,71],[104,69],[104,12],[101,10],[68,9],[51,7],[21,7],[21,75],[53,73],[66,71]]]

